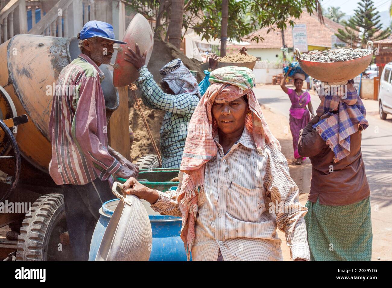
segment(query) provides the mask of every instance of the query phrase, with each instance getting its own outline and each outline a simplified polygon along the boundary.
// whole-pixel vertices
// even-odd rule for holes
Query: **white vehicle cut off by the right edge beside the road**
[[[392,114],[392,62],[385,65],[380,77],[380,90],[378,92],[378,113],[381,119],[387,119]]]

